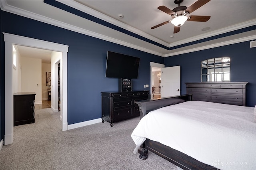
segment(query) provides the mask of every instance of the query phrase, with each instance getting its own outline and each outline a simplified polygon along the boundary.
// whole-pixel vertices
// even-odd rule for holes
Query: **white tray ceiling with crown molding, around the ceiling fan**
[[[189,15],[211,16],[207,22],[186,21],[180,32],[173,34],[171,23],[155,29],[152,26],[171,20],[171,16],[158,10],[158,6],[169,9],[177,7],[174,0],[58,0],[62,4],[78,9],[120,28],[135,33],[141,38],[125,34],[94,21],[82,18],[43,2],[43,0],[1,0],[1,9],[21,16],[60,26],[162,57],[226,45],[242,38],[256,39],[252,30],[224,38],[177,47],[184,43],[210,38],[226,32],[239,30],[256,24],[256,0],[211,0]],[[191,6],[196,0],[184,0],[181,6]],[[119,18],[122,14],[124,17]],[[202,29],[210,27],[210,30]],[[173,36],[171,38],[170,36]],[[141,40],[146,38],[147,40]],[[150,40],[151,42],[149,42]],[[248,39],[245,39],[248,41]],[[173,49],[169,49],[173,47]]]

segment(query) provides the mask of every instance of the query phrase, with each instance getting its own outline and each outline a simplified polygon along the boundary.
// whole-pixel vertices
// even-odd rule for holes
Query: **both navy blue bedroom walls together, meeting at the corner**
[[[92,38],[29,18],[1,11],[0,94],[1,139],[4,138],[4,36],[2,32],[69,45],[68,47],[68,124],[101,117],[101,91],[117,91],[118,79],[106,78],[107,51],[140,57],[138,79],[133,79],[134,90],[150,84],[150,62],[181,65],[181,93],[186,93],[185,82],[200,82],[200,62],[214,57],[231,57],[231,81],[248,81],[247,105],[256,103],[256,48],[249,42],[196,51],[172,57],[150,53]],[[254,55],[253,55],[254,54]]]

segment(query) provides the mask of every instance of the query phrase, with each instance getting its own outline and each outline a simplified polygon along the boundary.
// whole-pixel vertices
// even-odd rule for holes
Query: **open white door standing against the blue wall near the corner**
[[[161,98],[180,95],[180,65],[161,69]]]

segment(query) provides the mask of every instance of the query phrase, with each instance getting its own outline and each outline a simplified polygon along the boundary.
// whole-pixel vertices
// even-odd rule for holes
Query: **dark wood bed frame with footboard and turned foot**
[[[140,111],[140,119],[144,117],[148,112],[159,109],[161,107],[170,106],[185,101],[191,101],[192,94],[179,95],[174,97],[165,97],[160,99],[150,99],[144,101],[135,101],[138,104]],[[189,140],[189,139],[188,139]],[[161,156],[162,158],[172,162],[176,166],[184,170],[218,170],[218,168],[199,162],[198,160],[179,152],[169,146],[161,144],[159,142],[147,139],[138,149],[141,159],[148,158],[148,150]]]

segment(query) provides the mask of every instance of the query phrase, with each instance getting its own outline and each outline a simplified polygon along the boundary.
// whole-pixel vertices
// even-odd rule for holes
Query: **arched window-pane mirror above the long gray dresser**
[[[202,61],[201,81],[230,81],[230,57],[218,57]]]

